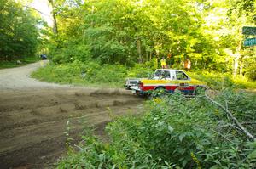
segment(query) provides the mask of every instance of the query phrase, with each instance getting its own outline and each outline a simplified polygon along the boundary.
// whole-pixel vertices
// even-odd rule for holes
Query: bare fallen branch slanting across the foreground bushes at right
[[[221,109],[223,109],[224,112],[226,112],[226,114],[230,116],[230,119],[235,122],[236,126],[241,129],[241,132],[245,133],[248,138],[251,138],[251,139],[253,139],[253,141],[256,141],[256,138],[253,136],[253,134],[251,134],[250,132],[248,132],[247,129],[246,129],[246,127],[243,127],[243,126],[241,125],[241,123],[236,119],[236,117],[235,117],[234,115],[232,115],[232,113],[230,112],[230,110],[228,110],[228,109],[225,108],[222,104],[219,104],[218,102],[216,102],[215,100],[213,100],[212,98],[210,98],[210,97],[207,95],[207,90],[206,90],[205,96],[206,96],[207,99],[210,100],[213,104],[216,104],[216,105],[218,105],[218,107],[220,107]],[[227,107],[227,105],[226,105],[226,107]]]

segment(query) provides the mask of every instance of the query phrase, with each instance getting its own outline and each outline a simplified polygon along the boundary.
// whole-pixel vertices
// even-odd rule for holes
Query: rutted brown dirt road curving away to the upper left
[[[0,168],[51,168],[70,137],[103,130],[111,115],[137,114],[143,99],[122,89],[61,86],[29,77],[44,62],[0,70]],[[111,115],[110,115],[111,114]]]

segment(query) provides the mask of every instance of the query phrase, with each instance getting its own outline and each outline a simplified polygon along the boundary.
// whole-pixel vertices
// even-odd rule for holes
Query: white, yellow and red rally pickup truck
[[[159,69],[155,70],[150,79],[143,79],[137,86],[131,87],[132,93],[145,95],[154,90],[164,90],[173,93],[178,89],[184,94],[194,95],[197,87],[205,87],[204,82],[191,80],[183,70]]]

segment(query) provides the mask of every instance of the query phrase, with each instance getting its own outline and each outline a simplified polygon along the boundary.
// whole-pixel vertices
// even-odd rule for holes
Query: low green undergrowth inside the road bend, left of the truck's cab
[[[95,87],[123,87],[126,77],[148,77],[152,70],[147,66],[99,65],[95,62],[75,61],[70,64],[53,63],[32,73],[32,77],[46,82],[76,84]]]

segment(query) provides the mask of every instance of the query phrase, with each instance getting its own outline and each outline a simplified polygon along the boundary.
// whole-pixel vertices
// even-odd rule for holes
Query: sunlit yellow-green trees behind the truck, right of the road
[[[246,8],[248,5],[248,10]],[[243,48],[241,27],[252,25],[253,1],[56,0],[58,34],[49,55],[56,64],[75,60],[133,67],[166,57],[173,68],[190,59],[192,70],[240,74],[254,80],[255,49]],[[229,24],[226,24],[229,23]],[[239,62],[239,63],[238,63]],[[146,68],[146,69],[144,69]],[[141,77],[139,76],[139,77]]]

